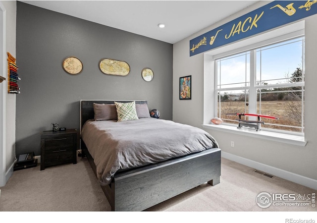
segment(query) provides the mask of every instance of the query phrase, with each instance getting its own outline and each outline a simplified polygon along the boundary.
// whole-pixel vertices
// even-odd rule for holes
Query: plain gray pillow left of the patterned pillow
[[[95,121],[116,120],[117,110],[115,105],[94,103]]]

